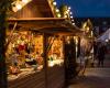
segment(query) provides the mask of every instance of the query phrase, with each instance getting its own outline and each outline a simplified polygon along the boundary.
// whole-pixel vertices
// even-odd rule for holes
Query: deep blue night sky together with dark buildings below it
[[[95,34],[100,35],[110,28],[110,0],[55,0],[57,7],[67,4],[72,8],[75,24],[81,28],[90,19]]]

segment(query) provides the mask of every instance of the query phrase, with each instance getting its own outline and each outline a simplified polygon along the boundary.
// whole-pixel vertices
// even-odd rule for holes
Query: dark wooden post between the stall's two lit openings
[[[44,57],[44,70],[45,70],[45,88],[47,88],[47,36],[43,34],[43,57]]]

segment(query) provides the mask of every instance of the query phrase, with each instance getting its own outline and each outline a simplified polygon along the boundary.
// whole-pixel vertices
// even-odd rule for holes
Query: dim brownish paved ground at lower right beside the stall
[[[68,88],[110,88],[110,61],[105,67],[87,68],[85,76],[72,80]]]

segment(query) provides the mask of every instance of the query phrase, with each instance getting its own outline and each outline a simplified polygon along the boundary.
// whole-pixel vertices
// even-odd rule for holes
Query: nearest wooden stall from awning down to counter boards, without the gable
[[[57,18],[10,19],[8,22],[9,88],[62,88],[65,84],[63,37],[80,31]]]

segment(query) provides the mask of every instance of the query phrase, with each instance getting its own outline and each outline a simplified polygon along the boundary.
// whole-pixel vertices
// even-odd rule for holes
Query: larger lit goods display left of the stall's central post
[[[10,32],[10,31],[9,31]],[[43,69],[43,35],[31,31],[15,31],[8,35],[7,66],[9,79],[23,73]]]

